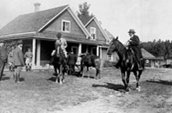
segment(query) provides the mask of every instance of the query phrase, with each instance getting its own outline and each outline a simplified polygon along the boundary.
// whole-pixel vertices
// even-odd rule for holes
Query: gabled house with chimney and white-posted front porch
[[[35,12],[16,17],[0,30],[0,40],[22,39],[23,52],[27,48],[32,49],[33,68],[49,63],[58,32],[67,40],[68,52],[74,51],[79,55],[89,51],[100,57],[106,54],[103,52],[104,45],[107,45],[106,35],[99,30],[95,33],[95,29],[89,32],[92,20],[83,25],[68,5],[44,11],[39,11],[39,6],[35,4]]]

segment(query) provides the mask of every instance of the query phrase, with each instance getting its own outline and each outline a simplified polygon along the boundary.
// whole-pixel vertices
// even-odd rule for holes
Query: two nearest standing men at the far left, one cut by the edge
[[[5,45],[4,41],[0,42],[0,71],[1,71],[1,75],[0,75],[0,79],[2,79],[3,76],[3,71],[4,71],[4,67],[5,64],[8,62],[8,50],[7,47]],[[16,42],[15,45],[13,45],[13,47],[10,50],[10,65],[13,66],[13,77],[15,77],[15,82],[20,82],[20,72],[22,70],[22,67],[25,65],[24,63],[24,55],[22,52],[22,46],[23,46],[23,42],[22,40],[18,40]]]

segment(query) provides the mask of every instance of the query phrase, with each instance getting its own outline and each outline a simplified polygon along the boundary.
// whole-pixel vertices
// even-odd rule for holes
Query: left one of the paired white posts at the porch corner
[[[32,68],[35,68],[35,56],[36,56],[36,39],[32,39]]]

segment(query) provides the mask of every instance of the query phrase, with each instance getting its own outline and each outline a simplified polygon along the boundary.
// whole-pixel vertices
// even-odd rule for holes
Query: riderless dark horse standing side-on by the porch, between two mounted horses
[[[94,67],[96,69],[96,75],[94,78],[100,79],[100,71],[101,71],[101,59],[93,54],[83,54],[81,57],[81,70],[80,74],[83,77],[83,70],[87,67],[87,71],[89,71],[89,67]]]

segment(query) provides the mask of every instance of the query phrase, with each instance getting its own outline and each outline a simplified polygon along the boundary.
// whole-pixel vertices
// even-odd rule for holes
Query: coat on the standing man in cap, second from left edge
[[[23,52],[19,47],[14,49],[14,65],[15,66],[24,66],[24,56]]]

